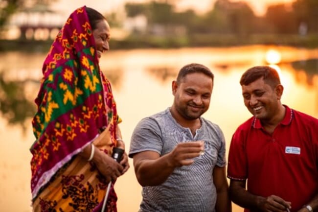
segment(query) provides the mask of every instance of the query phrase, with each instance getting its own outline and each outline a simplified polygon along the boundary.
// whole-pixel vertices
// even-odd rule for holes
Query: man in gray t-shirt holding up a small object
[[[207,111],[213,74],[184,66],[172,83],[172,107],[136,126],[129,157],[142,188],[139,212],[230,212],[225,140]]]

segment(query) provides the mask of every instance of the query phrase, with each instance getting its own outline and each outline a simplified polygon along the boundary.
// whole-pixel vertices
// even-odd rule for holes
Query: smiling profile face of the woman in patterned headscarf
[[[97,22],[96,29],[93,30],[93,37],[99,59],[105,51],[109,50],[110,27],[106,20]]]

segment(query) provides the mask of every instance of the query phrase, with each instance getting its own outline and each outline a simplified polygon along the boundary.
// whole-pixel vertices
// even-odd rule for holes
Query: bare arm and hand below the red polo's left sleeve
[[[286,212],[287,208],[291,209],[291,202],[275,195],[268,197],[253,195],[246,190],[245,186],[246,180],[230,180],[230,198],[235,204],[243,208],[263,212]]]

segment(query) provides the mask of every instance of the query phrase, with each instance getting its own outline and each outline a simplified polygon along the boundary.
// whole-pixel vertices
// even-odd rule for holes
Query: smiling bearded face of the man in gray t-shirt
[[[210,105],[213,82],[203,73],[187,74],[178,84],[173,82],[174,107],[186,120],[199,118]]]

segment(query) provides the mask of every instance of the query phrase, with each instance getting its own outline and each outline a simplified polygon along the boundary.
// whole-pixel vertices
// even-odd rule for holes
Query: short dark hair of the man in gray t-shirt
[[[178,73],[177,76],[177,82],[180,83],[181,80],[188,74],[190,73],[203,73],[206,76],[209,76],[212,79],[212,82],[214,80],[214,75],[212,73],[212,71],[210,71],[209,68],[207,68],[206,66],[202,65],[202,64],[198,64],[198,63],[191,63],[188,65],[185,65],[181,68],[181,70]]]

